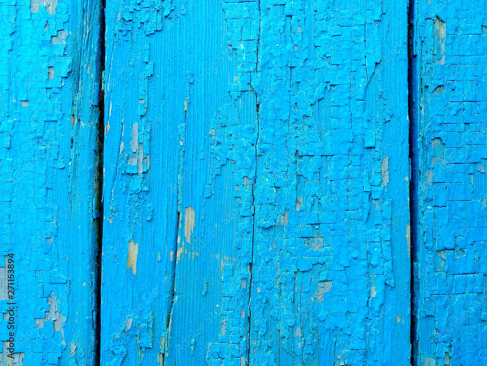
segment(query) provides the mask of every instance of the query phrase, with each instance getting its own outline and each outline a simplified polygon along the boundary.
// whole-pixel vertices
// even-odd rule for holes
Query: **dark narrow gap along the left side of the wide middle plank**
[[[96,138],[96,167],[95,167],[95,209],[98,217],[95,220],[96,231],[96,328],[95,332],[95,357],[94,365],[100,365],[100,347],[101,347],[101,275],[102,275],[102,246],[103,246],[103,150],[105,144],[105,8],[106,0],[100,0],[99,6],[99,24],[100,24],[100,63],[99,63],[99,95],[98,108],[100,115],[98,117],[98,135]]]

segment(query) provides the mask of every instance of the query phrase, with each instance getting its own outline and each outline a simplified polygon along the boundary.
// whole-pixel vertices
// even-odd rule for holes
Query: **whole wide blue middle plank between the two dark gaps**
[[[406,3],[109,1],[105,84],[103,365],[410,364]]]

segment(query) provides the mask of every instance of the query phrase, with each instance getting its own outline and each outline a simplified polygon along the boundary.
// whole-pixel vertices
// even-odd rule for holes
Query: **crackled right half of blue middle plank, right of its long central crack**
[[[249,364],[410,365],[407,3],[262,0],[258,52]]]

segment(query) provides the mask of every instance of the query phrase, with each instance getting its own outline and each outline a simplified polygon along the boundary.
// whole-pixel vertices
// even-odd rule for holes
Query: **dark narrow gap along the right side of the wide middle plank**
[[[414,50],[414,6],[415,0],[408,3],[408,117],[409,117],[409,160],[410,160],[410,185],[409,185],[409,208],[410,208],[410,257],[411,257],[411,365],[417,366],[417,307],[416,307],[416,276],[415,262],[417,258],[418,238],[418,202],[417,190],[419,181],[419,165],[417,155],[418,149],[418,117],[417,117],[417,59]]]

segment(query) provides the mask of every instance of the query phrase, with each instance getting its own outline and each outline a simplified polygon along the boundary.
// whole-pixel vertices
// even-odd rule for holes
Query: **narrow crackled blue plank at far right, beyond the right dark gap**
[[[487,7],[414,1],[416,365],[486,365]]]

